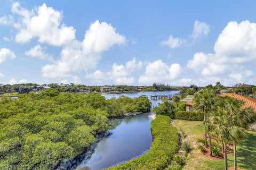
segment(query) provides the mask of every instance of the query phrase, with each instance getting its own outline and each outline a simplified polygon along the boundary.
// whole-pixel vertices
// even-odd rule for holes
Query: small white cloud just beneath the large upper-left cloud
[[[39,58],[40,60],[49,60],[53,61],[53,57],[50,54],[45,53],[45,48],[41,47],[40,45],[36,45],[33,48],[30,48],[25,54],[27,56]]]

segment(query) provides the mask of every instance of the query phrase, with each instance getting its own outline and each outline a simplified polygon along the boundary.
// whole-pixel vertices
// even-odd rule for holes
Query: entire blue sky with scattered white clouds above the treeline
[[[0,83],[256,83],[255,1],[10,1]]]

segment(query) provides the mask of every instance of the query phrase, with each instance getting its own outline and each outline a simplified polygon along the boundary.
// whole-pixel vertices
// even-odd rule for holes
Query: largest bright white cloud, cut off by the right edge
[[[256,23],[242,21],[229,22],[222,30],[214,45],[214,54],[196,53],[187,67],[201,72],[204,76],[214,76],[232,71],[234,64],[242,64],[256,59]]]

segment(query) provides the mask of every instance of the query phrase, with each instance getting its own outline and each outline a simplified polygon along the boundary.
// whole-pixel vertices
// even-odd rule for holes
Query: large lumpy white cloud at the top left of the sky
[[[19,22],[14,24],[19,30],[15,36],[18,43],[27,43],[37,37],[39,43],[61,46],[75,39],[76,30],[62,23],[62,12],[46,4],[29,11],[15,2],[12,4],[12,12],[21,16]]]

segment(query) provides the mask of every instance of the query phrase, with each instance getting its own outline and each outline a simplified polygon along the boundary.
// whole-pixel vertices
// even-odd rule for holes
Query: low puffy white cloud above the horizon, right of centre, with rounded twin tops
[[[155,82],[166,82],[178,78],[181,71],[180,64],[174,63],[169,66],[162,62],[162,60],[157,60],[146,66],[145,74],[140,76],[139,83],[151,84]]]

